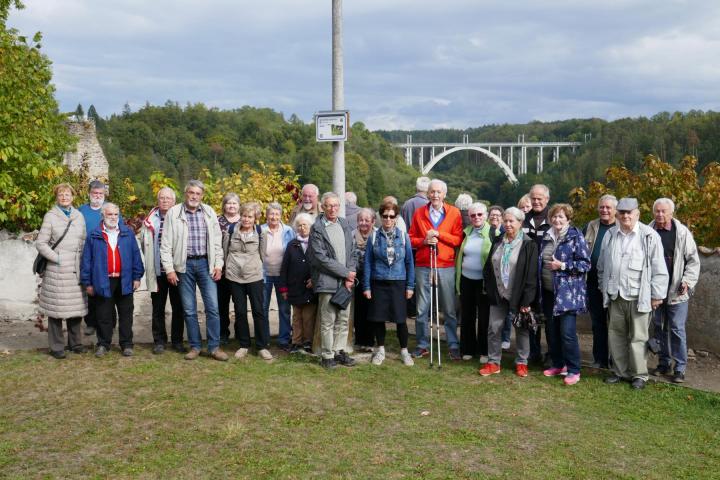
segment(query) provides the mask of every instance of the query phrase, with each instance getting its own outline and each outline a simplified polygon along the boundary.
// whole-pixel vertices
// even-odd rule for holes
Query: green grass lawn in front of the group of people
[[[720,478],[720,395],[503,367],[13,353],[0,477]]]

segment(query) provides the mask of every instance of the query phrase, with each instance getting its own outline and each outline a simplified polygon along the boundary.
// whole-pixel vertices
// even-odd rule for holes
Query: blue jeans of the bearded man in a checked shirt
[[[196,286],[205,306],[205,328],[208,351],[213,352],[220,346],[220,315],[218,314],[217,286],[210,276],[207,258],[187,259],[185,273],[179,273],[180,299],[185,313],[185,328],[191,348],[200,350],[202,336],[197,318]]]

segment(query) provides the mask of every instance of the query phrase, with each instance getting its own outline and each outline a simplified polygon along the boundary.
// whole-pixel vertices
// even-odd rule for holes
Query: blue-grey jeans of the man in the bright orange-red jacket
[[[438,268],[438,299],[445,319],[445,335],[449,348],[459,348],[457,314],[455,313],[455,267]],[[415,320],[415,340],[418,348],[429,347],[428,318],[430,316],[430,268],[415,268],[418,316]]]

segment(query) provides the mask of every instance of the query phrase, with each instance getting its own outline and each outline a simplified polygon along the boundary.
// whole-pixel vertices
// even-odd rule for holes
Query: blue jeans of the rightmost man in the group
[[[687,321],[688,302],[660,305],[653,315],[655,329],[653,337],[660,342],[658,365],[671,367],[675,360],[675,373],[685,373],[687,365]]]

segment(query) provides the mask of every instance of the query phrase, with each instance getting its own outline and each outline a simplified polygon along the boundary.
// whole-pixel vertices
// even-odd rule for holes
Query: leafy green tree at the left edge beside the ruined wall
[[[0,228],[40,226],[53,202],[53,184],[67,176],[63,153],[76,139],[58,113],[50,60],[32,40],[7,28],[19,0],[0,0]]]

